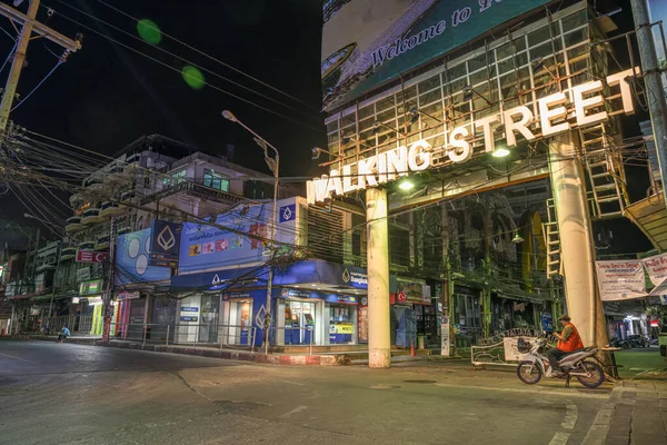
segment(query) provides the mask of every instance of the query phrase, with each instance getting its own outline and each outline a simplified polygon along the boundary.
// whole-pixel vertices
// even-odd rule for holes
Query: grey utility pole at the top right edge
[[[646,100],[650,110],[650,123],[654,129],[656,155],[663,181],[663,195],[667,202],[667,101],[665,87],[660,79],[661,70],[658,66],[658,56],[650,29],[648,7],[646,0],[630,0],[635,28],[637,29],[637,44],[641,58],[641,71],[646,83]]]

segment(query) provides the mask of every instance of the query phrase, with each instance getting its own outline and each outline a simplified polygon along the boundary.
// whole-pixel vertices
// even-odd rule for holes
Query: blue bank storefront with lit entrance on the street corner
[[[221,298],[221,333],[230,343],[245,345],[267,313],[266,267],[245,267],[171,278],[176,293],[218,294]],[[302,260],[273,271],[272,343],[276,345],[328,345],[366,343],[367,275],[358,267],[323,260]],[[252,329],[257,328],[257,329]]]

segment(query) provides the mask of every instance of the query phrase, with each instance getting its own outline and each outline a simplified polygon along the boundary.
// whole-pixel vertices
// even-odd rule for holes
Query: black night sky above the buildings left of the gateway
[[[236,161],[268,172],[251,136],[220,116],[223,109],[230,109],[278,147],[282,157],[281,176],[307,172],[306,167],[311,165],[310,148],[325,141],[319,113],[320,1],[108,2],[133,17],[155,21],[165,33],[301,100],[303,103],[262,87],[169,38],[162,37],[158,44],[289,105],[296,110],[203,72],[207,82],[302,125],[252,107],[209,86],[192,89],[180,72],[132,53],[67,19],[79,21],[179,71],[187,65],[67,6],[73,6],[138,37],[136,22],[94,0],[42,1],[54,13],[49,18],[47,9],[40,8],[38,19],[71,38],[82,32],[83,48],[72,53],[67,63],[59,67],[12,113],[16,122],[104,155],[115,155],[138,137],[151,134],[161,134],[220,155],[225,155],[227,144],[231,142],[236,146]],[[27,10],[27,1],[24,3],[20,7],[22,11]],[[9,23],[3,27],[13,32]],[[13,42],[7,36],[1,34],[0,38],[0,52],[6,55]],[[26,95],[53,67],[57,59],[49,53],[49,49],[57,55],[62,52],[54,43],[47,42],[44,46],[39,40],[30,43],[28,67],[23,70],[18,92]]]

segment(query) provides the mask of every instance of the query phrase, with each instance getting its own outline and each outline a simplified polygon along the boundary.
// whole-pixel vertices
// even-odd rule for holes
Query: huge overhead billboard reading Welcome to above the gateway
[[[325,0],[325,109],[551,0]]]

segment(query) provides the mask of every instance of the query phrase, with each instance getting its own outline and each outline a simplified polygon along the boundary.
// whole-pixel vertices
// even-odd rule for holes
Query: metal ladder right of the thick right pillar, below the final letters
[[[579,129],[579,136],[593,195],[591,217],[621,217],[629,201],[623,155],[614,149],[611,136],[604,123]]]

